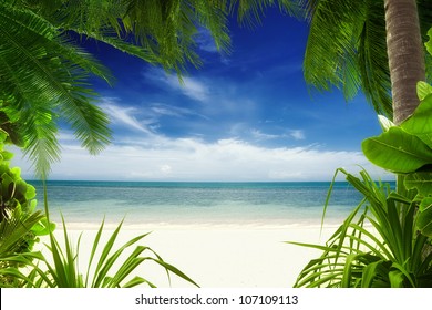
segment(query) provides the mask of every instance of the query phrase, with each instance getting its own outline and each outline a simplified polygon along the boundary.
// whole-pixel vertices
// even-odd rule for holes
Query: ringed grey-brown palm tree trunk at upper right
[[[416,0],[384,0],[387,51],[393,97],[393,122],[400,124],[419,105],[416,83],[425,64]]]

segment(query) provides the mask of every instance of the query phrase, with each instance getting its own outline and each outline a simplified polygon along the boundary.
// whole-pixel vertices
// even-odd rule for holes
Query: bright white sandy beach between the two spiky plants
[[[316,258],[319,251],[302,248],[284,241],[320,242],[335,231],[335,227],[323,230],[320,238],[319,226],[154,226],[148,229],[124,227],[117,239],[117,247],[131,238],[152,231],[141,240],[162,258],[181,269],[204,288],[286,288],[292,287],[300,270]],[[55,235],[62,240],[61,228]],[[74,240],[83,232],[80,247],[82,272],[86,266],[95,230],[69,229]],[[104,232],[104,239],[110,236]],[[135,275],[147,278],[157,287],[192,287],[184,280],[172,277],[153,262],[144,264]]]

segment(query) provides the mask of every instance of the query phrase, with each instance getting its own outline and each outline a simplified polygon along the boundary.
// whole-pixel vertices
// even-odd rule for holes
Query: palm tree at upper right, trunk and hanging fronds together
[[[395,123],[412,114],[419,104],[416,82],[425,79],[421,40],[431,25],[432,3],[302,2],[310,20],[304,62],[306,81],[318,90],[340,87],[348,100],[361,89],[377,113],[393,117]]]

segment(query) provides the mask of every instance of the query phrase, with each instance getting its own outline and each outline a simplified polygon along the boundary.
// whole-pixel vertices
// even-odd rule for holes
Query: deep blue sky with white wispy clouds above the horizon
[[[116,78],[113,86],[94,81],[114,141],[94,157],[63,128],[51,178],[330,180],[337,167],[358,165],[381,175],[360,152],[381,131],[364,97],[347,103],[337,90],[318,93],[304,82],[306,23],[269,11],[261,27],[232,22],[230,31],[230,54],[200,34],[204,65],[183,85],[140,59],[88,44]],[[32,176],[25,159],[14,163]]]

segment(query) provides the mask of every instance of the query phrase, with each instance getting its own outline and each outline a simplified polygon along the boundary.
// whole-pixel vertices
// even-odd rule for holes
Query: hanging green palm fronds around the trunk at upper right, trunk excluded
[[[310,31],[305,80],[319,91],[333,86],[351,100],[361,90],[379,114],[392,117],[384,1],[304,0]],[[422,35],[431,27],[432,3],[419,0]],[[431,63],[426,58],[426,63]]]

